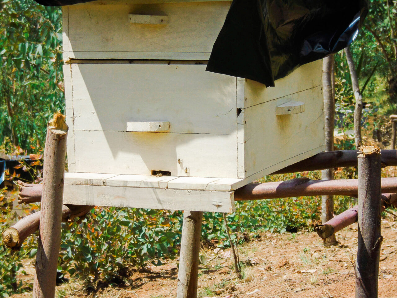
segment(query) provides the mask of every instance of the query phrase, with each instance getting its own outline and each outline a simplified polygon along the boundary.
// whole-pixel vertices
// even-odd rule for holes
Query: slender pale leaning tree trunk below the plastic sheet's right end
[[[347,64],[349,65],[351,82],[353,85],[354,98],[356,99],[356,106],[354,109],[354,140],[356,148],[361,145],[361,115],[362,115],[362,95],[360,92],[360,85],[358,85],[358,77],[356,67],[354,66],[353,57],[351,56],[350,48],[345,48]]]

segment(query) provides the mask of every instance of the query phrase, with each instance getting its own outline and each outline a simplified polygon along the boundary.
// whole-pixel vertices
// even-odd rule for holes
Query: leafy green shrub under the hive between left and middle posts
[[[95,208],[81,223],[64,223],[61,268],[85,284],[122,283],[131,268],[173,259],[179,216],[160,210]]]

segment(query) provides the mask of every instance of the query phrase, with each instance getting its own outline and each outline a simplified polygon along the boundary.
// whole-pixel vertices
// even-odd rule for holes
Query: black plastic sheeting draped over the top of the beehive
[[[274,86],[298,66],[348,46],[367,12],[367,0],[233,0],[206,70]]]

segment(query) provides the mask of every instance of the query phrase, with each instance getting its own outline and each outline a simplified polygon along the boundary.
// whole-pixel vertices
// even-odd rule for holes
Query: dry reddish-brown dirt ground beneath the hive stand
[[[397,221],[382,220],[379,297],[397,297]],[[202,250],[206,265],[200,266],[198,297],[222,298],[350,298],[355,297],[355,275],[351,258],[357,252],[357,224],[337,233],[338,247],[324,248],[314,232],[261,234],[239,246],[246,263],[243,279],[233,271],[231,250]],[[33,260],[25,271],[31,279]],[[136,272],[124,286],[107,287],[85,294],[81,285],[70,282],[57,286],[57,298],[168,298],[176,297],[177,261],[167,261],[146,272]],[[30,293],[13,298],[30,297]]]

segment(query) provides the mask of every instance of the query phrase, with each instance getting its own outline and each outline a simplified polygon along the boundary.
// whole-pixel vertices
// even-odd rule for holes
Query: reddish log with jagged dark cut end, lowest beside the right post
[[[382,194],[382,211],[387,207],[397,207],[397,194]],[[333,233],[336,233],[351,224],[357,222],[358,206],[351,207],[341,214],[333,217],[324,224],[317,224],[314,230],[318,236],[322,239],[330,237]]]

